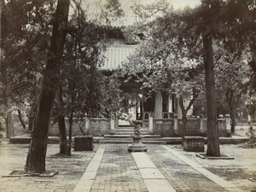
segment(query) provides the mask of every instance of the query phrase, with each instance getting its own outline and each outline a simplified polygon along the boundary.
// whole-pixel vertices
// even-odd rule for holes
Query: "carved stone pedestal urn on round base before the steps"
[[[143,121],[140,120],[134,120],[132,121],[134,123],[134,136],[133,138],[133,144],[131,144],[128,147],[129,152],[146,152],[148,149],[145,144],[142,144],[142,138],[141,135],[141,127],[143,126]]]

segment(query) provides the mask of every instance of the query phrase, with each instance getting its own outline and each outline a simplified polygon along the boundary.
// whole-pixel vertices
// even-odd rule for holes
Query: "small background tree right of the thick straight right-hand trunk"
[[[215,59],[217,98],[220,103],[219,110],[224,110],[218,114],[230,114],[231,132],[235,133],[236,118],[238,112],[245,107],[244,101],[249,96],[247,87],[253,77],[253,71],[247,65],[250,57],[246,52],[242,57],[227,54],[220,45],[215,50],[218,54],[218,59]]]

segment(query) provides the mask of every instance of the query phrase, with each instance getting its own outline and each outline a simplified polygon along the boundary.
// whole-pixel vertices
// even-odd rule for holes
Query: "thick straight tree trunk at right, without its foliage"
[[[205,1],[202,2],[202,6],[205,9],[203,20],[206,25],[202,33],[202,40],[207,96],[207,155],[220,156],[211,29],[214,15],[219,11],[219,2]]]

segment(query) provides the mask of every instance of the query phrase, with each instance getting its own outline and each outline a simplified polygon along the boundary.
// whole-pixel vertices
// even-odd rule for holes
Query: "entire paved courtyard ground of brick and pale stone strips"
[[[95,144],[64,158],[55,155],[58,144],[49,144],[46,169],[55,176],[7,177],[23,169],[28,144],[1,141],[0,191],[256,191],[255,149],[221,145],[235,160],[206,160],[175,145],[147,147],[129,153],[128,144]]]

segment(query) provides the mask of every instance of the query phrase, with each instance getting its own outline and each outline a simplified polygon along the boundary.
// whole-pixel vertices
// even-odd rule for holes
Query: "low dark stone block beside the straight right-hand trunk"
[[[202,137],[185,136],[183,142],[183,150],[194,151],[194,152],[204,152],[205,142]]]

